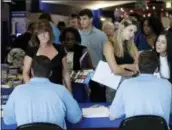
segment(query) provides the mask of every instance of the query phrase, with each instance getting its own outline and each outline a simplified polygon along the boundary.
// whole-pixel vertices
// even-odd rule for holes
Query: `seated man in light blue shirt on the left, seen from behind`
[[[71,123],[81,120],[82,112],[71,93],[62,85],[51,83],[51,61],[36,56],[32,63],[33,78],[17,86],[4,108],[5,124],[17,126],[47,122],[66,129],[65,118]]]

